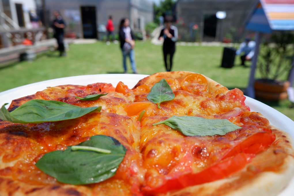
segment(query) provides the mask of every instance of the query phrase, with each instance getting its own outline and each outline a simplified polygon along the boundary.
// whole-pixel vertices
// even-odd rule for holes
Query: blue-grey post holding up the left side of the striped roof
[[[255,99],[255,91],[254,91],[255,79],[254,79],[254,75],[255,75],[257,58],[258,58],[258,54],[259,54],[260,40],[261,40],[261,33],[260,32],[255,32],[255,51],[254,51],[254,56],[252,58],[252,63],[251,63],[251,71],[250,71],[248,87],[247,87],[246,93],[245,93],[248,97],[251,97],[253,99]]]

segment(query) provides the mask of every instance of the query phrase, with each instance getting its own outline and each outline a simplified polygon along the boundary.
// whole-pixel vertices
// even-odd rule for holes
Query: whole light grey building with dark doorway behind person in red
[[[59,11],[67,24],[66,31],[75,31],[81,38],[99,38],[109,16],[113,16],[116,33],[122,18],[129,18],[135,31],[144,31],[145,24],[153,21],[151,0],[45,0],[45,3],[50,21],[54,19],[53,12]]]

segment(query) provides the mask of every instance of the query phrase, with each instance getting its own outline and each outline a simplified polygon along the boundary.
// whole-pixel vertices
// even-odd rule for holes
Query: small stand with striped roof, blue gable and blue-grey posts
[[[272,33],[273,30],[294,30],[294,1],[287,0],[259,0],[253,10],[245,20],[245,29],[255,31],[255,53],[252,58],[252,65],[250,71],[250,78],[246,95],[255,98],[254,82],[255,69],[259,54],[259,46],[262,33]],[[294,59],[292,62],[292,69],[290,70],[288,80],[290,81],[291,89],[288,92],[293,92],[294,81]],[[293,95],[289,95],[294,97]],[[291,100],[294,102],[294,100]]]

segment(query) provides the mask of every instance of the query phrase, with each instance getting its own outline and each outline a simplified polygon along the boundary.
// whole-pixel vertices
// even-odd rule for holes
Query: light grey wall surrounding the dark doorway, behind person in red
[[[122,18],[129,18],[131,28],[138,26],[138,17],[144,21],[153,21],[153,6],[151,0],[46,0],[50,21],[54,20],[53,12],[60,11],[67,24],[75,24],[74,31],[82,37],[81,6],[96,7],[97,31],[101,25],[106,25],[108,17],[113,16],[115,32]],[[142,7],[143,6],[143,7]],[[67,25],[66,31],[70,31]]]

